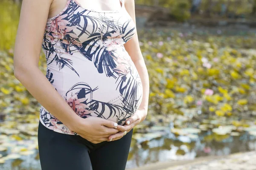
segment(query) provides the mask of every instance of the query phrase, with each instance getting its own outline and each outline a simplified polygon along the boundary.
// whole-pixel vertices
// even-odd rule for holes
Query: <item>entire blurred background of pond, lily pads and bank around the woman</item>
[[[256,0],[135,3],[150,99],[127,169],[256,170]],[[40,105],[13,74],[20,5],[0,0],[0,170],[41,170]]]

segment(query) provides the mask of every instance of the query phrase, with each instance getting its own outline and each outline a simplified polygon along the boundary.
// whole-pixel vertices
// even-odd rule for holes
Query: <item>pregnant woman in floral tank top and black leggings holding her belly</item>
[[[41,104],[42,170],[125,170],[149,94],[134,0],[23,0],[14,68]]]

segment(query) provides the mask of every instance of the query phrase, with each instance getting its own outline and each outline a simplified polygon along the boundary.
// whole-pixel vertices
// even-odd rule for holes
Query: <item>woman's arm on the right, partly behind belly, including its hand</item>
[[[123,0],[123,1],[125,1],[126,11],[128,12],[128,14],[130,14],[136,26],[134,0]],[[124,44],[124,46],[125,46],[125,50],[131,56],[131,59],[134,62],[134,65],[136,66],[137,71],[140,75],[140,79],[143,85],[143,99],[138,110],[134,113],[134,115],[125,121],[126,125],[117,127],[117,129],[120,130],[120,132],[108,137],[108,139],[112,138],[112,141],[122,138],[124,136],[125,131],[129,132],[136,125],[143,122],[148,113],[148,97],[149,97],[148,70],[146,68],[143,55],[140,51],[140,44],[138,40],[137,31],[134,34],[134,36]]]

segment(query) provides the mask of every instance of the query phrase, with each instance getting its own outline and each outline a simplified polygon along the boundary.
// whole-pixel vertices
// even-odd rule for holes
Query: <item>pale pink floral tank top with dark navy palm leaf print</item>
[[[124,48],[136,31],[122,7],[95,11],[67,0],[65,8],[47,20],[42,48],[46,77],[73,111],[123,125],[142,102],[137,69]],[[59,133],[77,135],[42,105],[40,122]]]

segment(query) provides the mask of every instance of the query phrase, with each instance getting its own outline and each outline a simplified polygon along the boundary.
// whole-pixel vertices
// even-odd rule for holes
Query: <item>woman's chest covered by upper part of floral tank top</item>
[[[119,12],[96,12],[70,3],[58,17],[47,21],[49,37],[62,42],[90,43],[106,42],[123,44],[133,37],[136,31],[134,21],[122,9]]]

